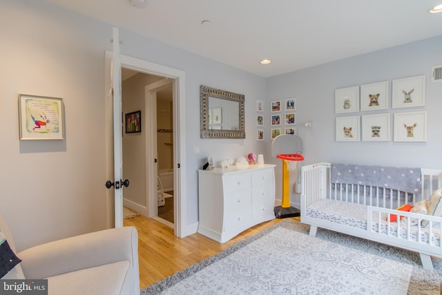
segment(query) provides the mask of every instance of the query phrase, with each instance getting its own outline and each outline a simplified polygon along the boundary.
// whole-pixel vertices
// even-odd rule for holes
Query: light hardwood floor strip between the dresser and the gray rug
[[[140,287],[145,288],[282,220],[263,222],[222,244],[200,234],[177,238],[173,236],[173,229],[144,216],[126,219],[124,226],[134,226],[138,230]]]

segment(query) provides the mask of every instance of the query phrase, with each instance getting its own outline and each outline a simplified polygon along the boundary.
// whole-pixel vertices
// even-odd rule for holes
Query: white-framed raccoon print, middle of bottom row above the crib
[[[388,142],[390,133],[390,113],[362,116],[363,142]]]

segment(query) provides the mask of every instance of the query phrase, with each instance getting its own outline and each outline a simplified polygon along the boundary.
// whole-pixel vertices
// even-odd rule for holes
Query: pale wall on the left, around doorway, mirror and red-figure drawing
[[[17,249],[106,227],[104,50],[112,50],[112,27],[42,0],[1,0],[0,213]],[[263,153],[265,144],[200,139],[200,84],[242,93],[246,119],[256,99],[265,100],[265,79],[120,30],[123,55],[186,73],[186,225],[198,221],[197,170],[205,157],[238,158]],[[66,140],[20,141],[19,93],[62,97]],[[250,132],[250,133],[249,133]],[[268,143],[268,142],[267,142]],[[200,146],[200,155],[191,147]],[[135,185],[132,184],[131,185]],[[185,226],[185,225],[183,225]]]

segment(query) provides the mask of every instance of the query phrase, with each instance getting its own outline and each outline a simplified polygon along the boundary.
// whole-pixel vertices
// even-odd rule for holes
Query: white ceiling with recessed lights
[[[261,77],[442,35],[442,0],[46,1]]]

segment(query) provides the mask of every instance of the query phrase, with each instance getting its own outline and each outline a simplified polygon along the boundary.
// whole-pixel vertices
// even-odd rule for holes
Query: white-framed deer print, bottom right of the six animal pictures
[[[427,112],[395,113],[394,114],[395,142],[426,142],[427,141]]]

